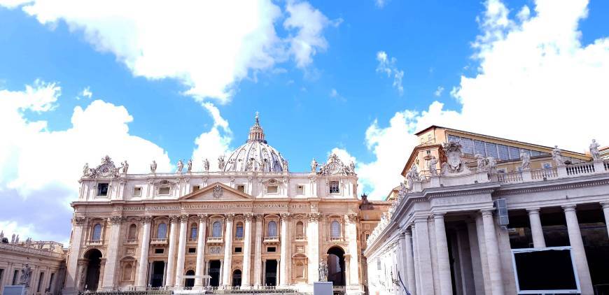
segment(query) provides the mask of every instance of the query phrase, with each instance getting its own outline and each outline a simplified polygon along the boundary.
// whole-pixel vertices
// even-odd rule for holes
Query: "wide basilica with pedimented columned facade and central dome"
[[[161,173],[153,161],[150,173],[130,174],[108,156],[85,166],[64,294],[208,284],[312,292],[324,262],[337,292],[365,292],[363,243],[391,202],[360,201],[352,163],[332,154],[291,172],[256,115],[244,145],[203,166],[179,161]]]

